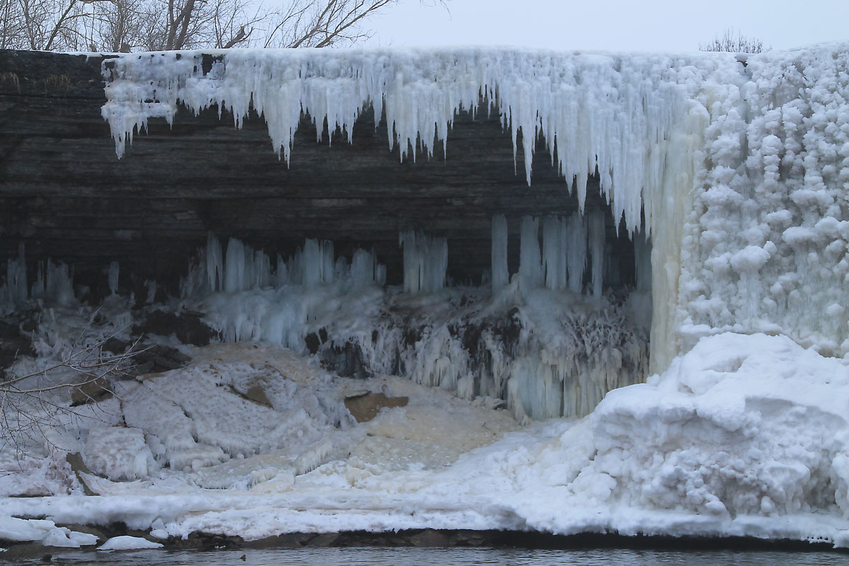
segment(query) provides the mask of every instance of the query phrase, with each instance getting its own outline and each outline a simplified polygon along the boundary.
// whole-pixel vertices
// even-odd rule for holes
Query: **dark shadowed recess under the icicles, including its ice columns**
[[[649,371],[643,229],[611,210],[598,171],[581,198],[542,132],[529,184],[523,132],[511,139],[487,98],[454,115],[444,143],[419,136],[403,156],[402,142],[386,145],[400,136],[386,108],[332,133],[325,119],[320,135],[302,111],[283,159],[255,109],[234,128],[212,104],[153,116],[119,160],[100,59],[2,55],[22,74],[19,59],[37,59],[42,83],[70,77],[7,79],[0,92],[17,115],[3,126],[15,135],[3,143],[0,297],[32,348],[63,312],[85,311],[128,339],[270,342],[520,421],[586,415]],[[219,60],[204,56],[204,76]],[[186,320],[201,330],[181,332]]]

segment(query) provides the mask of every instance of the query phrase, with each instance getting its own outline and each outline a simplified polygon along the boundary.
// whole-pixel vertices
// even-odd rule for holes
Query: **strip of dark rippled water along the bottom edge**
[[[241,559],[245,556],[245,560]],[[3,562],[0,554],[0,562]],[[45,564],[42,558],[16,564]],[[263,548],[213,552],[131,551],[57,552],[50,563],[65,566],[828,566],[846,564],[849,555],[838,552],[777,551],[662,551],[599,548],[582,550],[533,550],[501,548]]]

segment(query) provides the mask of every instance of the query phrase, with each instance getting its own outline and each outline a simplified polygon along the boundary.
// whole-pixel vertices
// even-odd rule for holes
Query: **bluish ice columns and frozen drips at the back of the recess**
[[[594,287],[602,281],[604,216],[592,217],[601,219],[593,235],[597,244],[590,243],[580,220],[546,219],[556,226],[554,234],[543,234],[548,261],[565,270],[569,254],[580,258],[570,265],[577,272],[570,272],[577,282],[571,290],[565,271],[557,285],[543,289],[539,222],[526,217],[518,278],[492,296],[482,289],[443,289],[447,240],[424,233],[400,234],[404,285],[388,291],[381,289],[385,266],[374,252],[357,249],[350,265],[341,257],[334,267],[326,251],[333,244],[307,239],[289,261],[278,258],[271,272],[267,261],[252,259],[267,255],[234,238],[218,263],[222,246],[211,234],[183,281],[183,301],[205,312],[206,322],[227,341],[261,340],[306,354],[312,335],[319,343],[311,353],[358,356],[349,361],[363,364],[366,373],[405,375],[468,400],[501,399],[520,419],[583,416],[610,389],[637,383],[648,371],[643,325],[634,322],[628,305],[604,298]],[[502,253],[494,255],[502,266],[493,264],[492,272],[500,269],[506,278],[506,224],[503,217],[492,222],[493,246]],[[573,225],[581,236],[569,240],[563,233]],[[582,294],[588,248],[597,275]],[[213,293],[217,276],[211,274],[222,272],[225,292]],[[252,283],[228,291],[231,276]]]

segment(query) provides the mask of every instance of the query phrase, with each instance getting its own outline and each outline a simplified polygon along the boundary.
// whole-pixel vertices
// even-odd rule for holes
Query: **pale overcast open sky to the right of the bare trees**
[[[765,46],[849,40],[849,0],[400,0],[368,45],[695,51],[728,27]]]

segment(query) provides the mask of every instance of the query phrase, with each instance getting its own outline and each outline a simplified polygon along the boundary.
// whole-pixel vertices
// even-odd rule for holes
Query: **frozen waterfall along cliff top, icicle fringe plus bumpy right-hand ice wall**
[[[477,112],[486,104],[511,132],[529,183],[532,132],[547,140],[581,208],[588,175],[598,173],[616,226],[621,220],[650,242],[653,371],[700,336],[725,330],[785,333],[845,355],[847,50],[830,44],[748,58],[500,48],[248,50],[212,53],[205,74],[201,53],[133,54],[104,63],[103,115],[121,156],[133,132],[149,118],[170,121],[179,104],[195,113],[228,109],[236,126],[253,108],[288,161],[302,112],[319,124],[326,118],[350,140],[370,104],[375,121],[385,113],[390,146],[414,160],[430,155],[435,139],[446,139],[458,109]],[[555,227],[542,219],[543,233],[553,243],[557,233],[582,238],[600,226],[597,219],[577,222]],[[555,258],[557,245],[539,252],[542,271],[536,261],[522,271],[549,288],[559,288],[561,277],[574,287],[569,266]],[[587,258],[565,260],[580,261]],[[505,281],[502,264],[495,267],[498,289]],[[421,277],[419,271],[421,284],[438,287],[430,275]]]

